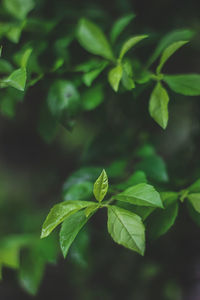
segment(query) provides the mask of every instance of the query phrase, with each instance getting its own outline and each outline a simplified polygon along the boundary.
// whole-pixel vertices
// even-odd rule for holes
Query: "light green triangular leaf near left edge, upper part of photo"
[[[24,91],[26,85],[26,69],[20,68],[15,70],[9,77],[4,79],[3,82],[19,91]]]

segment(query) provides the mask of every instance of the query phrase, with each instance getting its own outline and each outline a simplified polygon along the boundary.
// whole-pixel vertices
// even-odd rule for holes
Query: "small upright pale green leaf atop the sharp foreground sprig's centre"
[[[94,183],[93,193],[97,201],[101,202],[108,191],[108,177],[103,170]]]

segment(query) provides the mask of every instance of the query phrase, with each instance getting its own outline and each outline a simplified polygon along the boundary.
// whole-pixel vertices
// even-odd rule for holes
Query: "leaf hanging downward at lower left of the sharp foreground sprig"
[[[87,223],[90,217],[86,217],[85,212],[78,211],[69,216],[62,224],[60,230],[60,247],[64,258],[67,256],[68,250],[78,235],[79,231]]]

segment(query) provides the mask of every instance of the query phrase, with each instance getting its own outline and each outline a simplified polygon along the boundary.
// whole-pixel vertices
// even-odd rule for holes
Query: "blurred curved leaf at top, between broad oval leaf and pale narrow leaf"
[[[129,25],[129,23],[135,18],[134,14],[129,14],[118,19],[111,28],[110,40],[114,44],[121,32]]]

